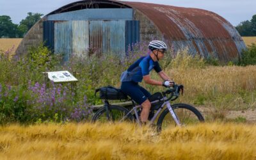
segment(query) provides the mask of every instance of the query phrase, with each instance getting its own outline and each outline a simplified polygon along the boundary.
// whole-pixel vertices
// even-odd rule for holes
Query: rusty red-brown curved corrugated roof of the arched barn
[[[245,49],[236,28],[216,13],[162,4],[119,2],[146,15],[176,49],[189,47],[194,54],[199,52],[204,57],[218,54],[221,61],[237,58]]]

